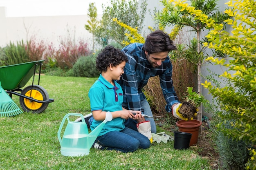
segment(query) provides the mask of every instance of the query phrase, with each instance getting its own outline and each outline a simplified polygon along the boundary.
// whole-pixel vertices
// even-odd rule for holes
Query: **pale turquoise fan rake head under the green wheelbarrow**
[[[11,97],[4,91],[0,82],[0,114],[1,117],[9,117],[23,113],[13,102]]]

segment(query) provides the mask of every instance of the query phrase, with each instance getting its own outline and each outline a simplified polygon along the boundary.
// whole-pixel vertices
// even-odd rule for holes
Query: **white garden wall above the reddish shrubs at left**
[[[0,7],[0,46],[31,37],[58,46],[60,40],[68,36],[75,40],[83,39],[92,46],[92,34],[84,28],[87,20],[87,15],[6,17],[5,7]]]

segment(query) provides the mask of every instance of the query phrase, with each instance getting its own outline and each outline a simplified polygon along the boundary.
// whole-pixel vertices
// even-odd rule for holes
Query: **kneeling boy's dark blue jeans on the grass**
[[[150,141],[146,136],[127,127],[120,132],[111,131],[99,136],[95,142],[102,146],[101,149],[119,150],[124,153],[133,152],[138,148],[146,149],[150,146]]]

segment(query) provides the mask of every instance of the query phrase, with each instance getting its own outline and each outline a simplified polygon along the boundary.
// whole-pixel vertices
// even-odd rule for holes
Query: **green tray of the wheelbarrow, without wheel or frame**
[[[7,91],[13,91],[24,87],[32,75],[34,75],[34,70],[37,70],[44,61],[45,60],[38,60],[0,67],[0,82],[2,88]]]

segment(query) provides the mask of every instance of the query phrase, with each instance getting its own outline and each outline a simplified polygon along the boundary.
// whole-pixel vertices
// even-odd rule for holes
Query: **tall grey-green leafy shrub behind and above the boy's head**
[[[137,28],[139,33],[143,29],[147,3],[146,0],[141,1],[141,5],[137,0],[110,0],[110,5],[103,6],[103,16],[100,21],[100,26],[97,29],[97,41],[102,40],[117,42],[122,44],[126,39],[126,30],[112,21],[113,18],[133,27]]]

